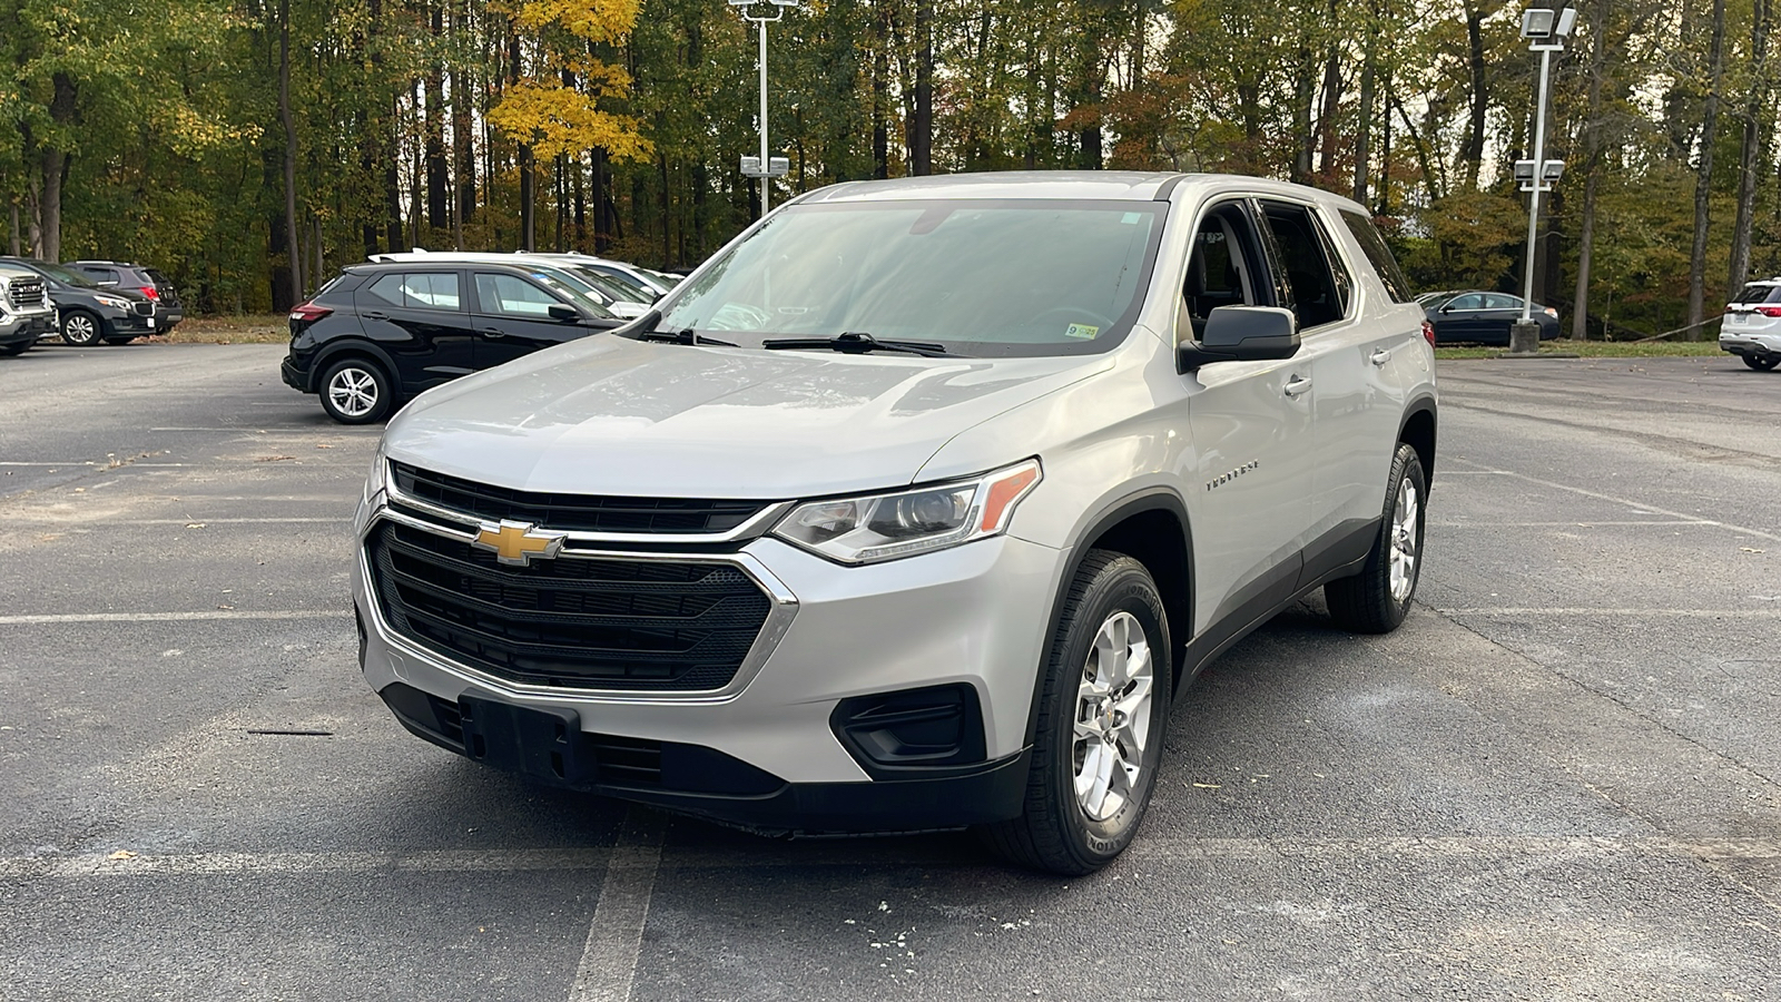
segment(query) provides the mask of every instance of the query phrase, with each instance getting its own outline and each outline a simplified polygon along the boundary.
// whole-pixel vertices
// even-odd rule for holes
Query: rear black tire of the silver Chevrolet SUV
[[[1405,494],[1409,487],[1409,494]],[[1423,460],[1416,449],[1398,442],[1398,451],[1391,456],[1391,476],[1386,480],[1386,513],[1378,526],[1373,549],[1366,554],[1366,563],[1354,578],[1339,578],[1323,585],[1323,601],[1330,608],[1336,626],[1350,633],[1391,633],[1403,622],[1416,599],[1416,583],[1423,572],[1423,524],[1427,522],[1428,478],[1423,474]],[[1411,510],[1412,526],[1398,526],[1400,506]],[[1402,540],[1400,528],[1409,533]],[[1411,542],[1409,569],[1405,578],[1409,587],[1393,592],[1393,540]],[[1402,554],[1400,554],[1402,556]]]

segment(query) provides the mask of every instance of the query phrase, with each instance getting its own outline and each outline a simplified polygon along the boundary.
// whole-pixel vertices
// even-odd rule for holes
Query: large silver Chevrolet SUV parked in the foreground
[[[1170,704],[1411,610],[1430,332],[1364,209],[1204,175],[842,184],[650,314],[426,392],[358,513],[415,735],[764,833],[1085,874]]]

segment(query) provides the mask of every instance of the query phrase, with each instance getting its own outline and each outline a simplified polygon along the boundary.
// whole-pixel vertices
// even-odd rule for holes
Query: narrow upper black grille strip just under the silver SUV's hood
[[[755,517],[760,501],[602,497],[490,487],[408,464],[390,464],[395,487],[420,501],[499,522],[534,522],[563,533],[725,533]]]

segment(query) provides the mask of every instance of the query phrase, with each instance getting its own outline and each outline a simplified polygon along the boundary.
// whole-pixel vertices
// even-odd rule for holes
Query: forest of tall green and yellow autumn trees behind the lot
[[[1574,7],[1537,298],[1578,333],[1587,303],[1590,337],[1712,317],[1781,269],[1770,0]],[[1364,201],[1423,289],[1519,289],[1521,11],[805,0],[769,41],[773,203],[923,173],[1254,173]],[[285,308],[390,248],[689,266],[757,210],[755,86],[725,0],[0,0],[0,228],[14,253],[153,264],[210,312]]]

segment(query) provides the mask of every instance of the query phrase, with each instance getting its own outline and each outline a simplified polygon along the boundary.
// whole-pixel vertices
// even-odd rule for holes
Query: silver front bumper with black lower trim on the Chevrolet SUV
[[[362,519],[362,538],[381,510]],[[755,829],[793,833],[915,831],[1019,815],[1026,729],[1044,660],[1049,610],[1065,554],[996,537],[867,567],[841,567],[773,538],[739,558],[789,615],[764,654],[716,694],[541,692],[513,685],[397,635],[370,592],[360,546],[354,601],[362,667],[415,735],[463,752],[451,717],[463,699],[566,715],[581,742],[650,742],[716,756],[716,770],[752,777],[705,790],[664,772],[654,786],[613,783],[602,767],[563,784],[647,801]],[[837,736],[850,697],[967,685],[983,726],[983,758],[873,779]],[[572,717],[568,717],[572,715]],[[664,760],[666,761],[666,760]],[[536,774],[552,781],[549,774]],[[588,777],[591,776],[591,779]]]

